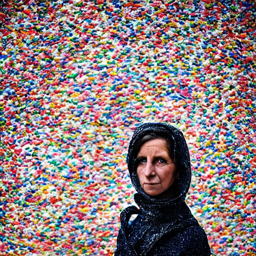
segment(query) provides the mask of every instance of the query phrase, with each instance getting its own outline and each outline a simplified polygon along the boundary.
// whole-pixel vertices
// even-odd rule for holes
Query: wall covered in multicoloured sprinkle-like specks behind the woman
[[[0,255],[113,255],[128,143],[154,121],[187,140],[212,252],[256,255],[254,1],[0,8]]]

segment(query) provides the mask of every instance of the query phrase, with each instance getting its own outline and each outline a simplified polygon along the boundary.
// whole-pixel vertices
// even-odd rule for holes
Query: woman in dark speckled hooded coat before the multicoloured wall
[[[164,123],[140,125],[127,165],[140,209],[133,205],[121,212],[115,256],[210,256],[204,229],[185,203],[191,165],[183,134]]]

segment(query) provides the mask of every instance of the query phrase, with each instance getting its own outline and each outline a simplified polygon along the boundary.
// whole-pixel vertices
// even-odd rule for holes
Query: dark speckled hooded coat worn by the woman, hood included
[[[150,132],[171,137],[176,167],[182,175],[173,183],[176,197],[153,199],[141,187],[137,176],[136,142]],[[120,214],[121,228],[117,236],[115,256],[210,256],[207,235],[185,203],[191,182],[191,164],[183,133],[165,123],[145,123],[137,127],[129,143],[127,165],[134,195],[139,206],[129,206]],[[129,219],[137,214],[129,225]]]

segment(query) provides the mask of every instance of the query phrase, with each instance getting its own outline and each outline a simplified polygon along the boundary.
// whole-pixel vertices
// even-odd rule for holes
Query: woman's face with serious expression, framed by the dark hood
[[[145,142],[140,148],[137,159],[139,159],[137,175],[141,187],[150,196],[157,196],[167,191],[178,177],[165,139],[151,139]]]

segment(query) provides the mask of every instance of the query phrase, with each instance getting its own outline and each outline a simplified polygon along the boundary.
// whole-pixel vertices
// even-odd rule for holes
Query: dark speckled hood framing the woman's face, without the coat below
[[[135,144],[144,135],[150,132],[160,132],[165,133],[170,136],[174,141],[174,158],[176,159],[176,166],[182,170],[183,175],[180,176],[179,180],[175,181],[177,186],[177,196],[173,199],[153,199],[151,196],[147,195],[142,189],[137,176],[136,171],[136,155],[135,155]],[[135,201],[147,200],[152,203],[162,204],[162,203],[181,203],[185,201],[186,194],[190,187],[191,182],[191,164],[188,146],[183,136],[183,133],[172,125],[165,123],[145,123],[140,125],[134,130],[132,139],[129,143],[129,149],[127,154],[127,165],[129,174],[131,177],[132,185],[139,194],[135,194]],[[136,200],[137,199],[137,200]]]

